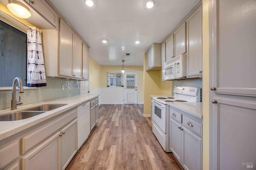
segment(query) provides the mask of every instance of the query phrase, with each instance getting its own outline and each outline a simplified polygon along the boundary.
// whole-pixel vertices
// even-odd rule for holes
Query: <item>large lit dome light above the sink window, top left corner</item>
[[[19,18],[29,18],[31,16],[29,12],[29,8],[16,0],[8,0],[9,4],[7,4],[8,10],[12,12],[15,16]]]

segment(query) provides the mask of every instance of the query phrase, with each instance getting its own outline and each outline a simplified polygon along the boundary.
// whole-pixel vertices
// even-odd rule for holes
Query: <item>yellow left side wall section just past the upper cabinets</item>
[[[90,74],[90,88],[99,88],[100,86],[100,64],[89,57],[89,74]]]

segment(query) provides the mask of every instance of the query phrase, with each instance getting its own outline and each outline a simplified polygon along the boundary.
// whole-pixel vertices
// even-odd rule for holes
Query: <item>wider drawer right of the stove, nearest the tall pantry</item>
[[[198,134],[200,137],[203,135],[203,125],[201,123],[198,123],[197,121],[194,121],[193,119],[182,116],[182,125],[186,128],[192,130],[196,134]]]

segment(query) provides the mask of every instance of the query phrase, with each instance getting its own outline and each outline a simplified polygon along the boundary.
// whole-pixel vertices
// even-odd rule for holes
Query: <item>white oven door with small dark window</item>
[[[152,100],[151,104],[153,121],[164,133],[166,133],[166,105],[155,100]]]

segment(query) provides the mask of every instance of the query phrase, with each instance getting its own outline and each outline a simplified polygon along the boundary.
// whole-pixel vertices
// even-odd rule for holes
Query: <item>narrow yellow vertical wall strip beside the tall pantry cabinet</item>
[[[208,0],[203,0],[203,170],[209,169],[209,18]]]

